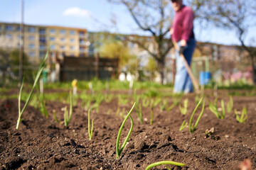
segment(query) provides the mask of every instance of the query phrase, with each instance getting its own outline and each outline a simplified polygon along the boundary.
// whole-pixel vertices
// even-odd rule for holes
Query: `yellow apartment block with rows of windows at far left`
[[[31,63],[38,63],[50,47],[50,57],[87,56],[87,30],[60,26],[24,25],[23,47]],[[0,23],[0,47],[14,50],[21,46],[21,26]],[[51,46],[50,46],[51,45]]]

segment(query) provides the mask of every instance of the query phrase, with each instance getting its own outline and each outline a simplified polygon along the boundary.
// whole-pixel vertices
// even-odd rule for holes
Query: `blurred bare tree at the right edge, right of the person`
[[[204,6],[203,17],[215,26],[235,30],[242,50],[247,52],[253,69],[253,82],[256,84],[256,47],[252,47],[250,42],[255,40],[248,37],[250,28],[256,26],[255,22],[255,1],[254,0],[210,0]],[[248,43],[246,40],[250,39]],[[247,43],[246,43],[247,42]]]

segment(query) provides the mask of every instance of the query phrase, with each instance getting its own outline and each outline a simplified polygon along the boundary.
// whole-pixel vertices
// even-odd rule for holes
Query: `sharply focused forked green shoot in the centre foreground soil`
[[[118,135],[117,135],[117,144],[116,144],[116,150],[117,150],[117,156],[116,158],[119,159],[120,157],[120,154],[122,153],[125,145],[127,144],[127,141],[129,140],[129,136],[131,135],[132,133],[132,128],[133,128],[133,125],[134,125],[134,121],[132,120],[132,116],[130,115],[132,113],[132,110],[134,108],[136,103],[134,103],[134,105],[132,106],[131,110],[129,111],[129,113],[127,114],[126,118],[124,118],[124,121],[122,122],[122,125],[120,126],[119,128],[119,132],[118,132]],[[132,125],[131,125],[131,128],[128,132],[128,135],[127,137],[125,138],[124,140],[124,143],[122,144],[122,147],[119,147],[119,140],[120,140],[120,137],[121,137],[121,133],[122,133],[122,130],[124,128],[124,124],[126,123],[127,119],[130,118],[131,119],[131,122],[132,122]]]

